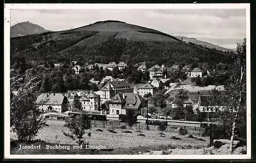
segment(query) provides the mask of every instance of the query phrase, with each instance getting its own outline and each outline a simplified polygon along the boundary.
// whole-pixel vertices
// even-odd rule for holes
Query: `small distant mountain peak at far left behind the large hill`
[[[29,21],[19,22],[11,26],[11,37],[39,34],[44,32],[52,32],[52,31],[45,30],[40,25],[33,24]]]

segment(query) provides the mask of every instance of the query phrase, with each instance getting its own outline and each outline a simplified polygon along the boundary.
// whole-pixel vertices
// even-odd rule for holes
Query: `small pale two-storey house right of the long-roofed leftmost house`
[[[100,110],[100,96],[94,92],[89,95],[81,97],[83,111],[98,112]]]

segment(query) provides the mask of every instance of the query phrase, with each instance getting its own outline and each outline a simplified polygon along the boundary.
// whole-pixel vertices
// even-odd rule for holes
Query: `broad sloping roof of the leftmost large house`
[[[61,93],[42,93],[37,97],[36,103],[48,105],[62,105],[65,97],[66,96],[62,95]]]

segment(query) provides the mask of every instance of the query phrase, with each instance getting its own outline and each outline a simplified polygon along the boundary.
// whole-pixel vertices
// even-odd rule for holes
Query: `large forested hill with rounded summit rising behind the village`
[[[120,21],[100,21],[77,29],[11,38],[11,63],[27,60],[82,60],[135,64],[231,63],[230,53],[188,44],[165,33]]]

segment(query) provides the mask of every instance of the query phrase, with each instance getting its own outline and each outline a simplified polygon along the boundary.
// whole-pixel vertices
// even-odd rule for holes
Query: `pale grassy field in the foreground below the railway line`
[[[49,126],[41,129],[36,137],[44,142],[41,146],[46,144],[60,144],[60,145],[76,145],[76,143],[68,137],[63,135],[63,131],[68,131],[65,127],[65,122],[63,121],[52,121],[48,120],[47,124]],[[102,129],[103,131],[96,131],[96,129]],[[21,149],[18,150],[19,146],[14,146],[11,148],[12,154],[138,154],[138,152],[148,152],[153,150],[162,150],[163,148],[171,149],[199,149],[205,148],[209,144],[209,138],[202,138],[204,141],[199,141],[196,139],[187,138],[187,135],[179,135],[177,132],[163,132],[164,134],[159,134],[160,131],[141,130],[141,133],[145,135],[139,136],[139,132],[135,132],[136,128],[120,129],[114,128],[113,130],[117,133],[111,133],[107,129],[109,126],[102,127],[92,127],[88,132],[91,132],[91,137],[85,135],[86,142],[91,146],[105,146],[107,151],[102,150],[87,150],[87,149],[70,149],[64,150],[59,149],[52,151],[50,149],[42,148],[40,150],[28,150]],[[132,131],[132,133],[124,133],[122,131]],[[160,135],[162,137],[160,137]],[[173,140],[171,137],[178,137],[181,140]],[[11,134],[11,138],[14,139],[15,135]],[[37,143],[37,144],[38,144]]]

